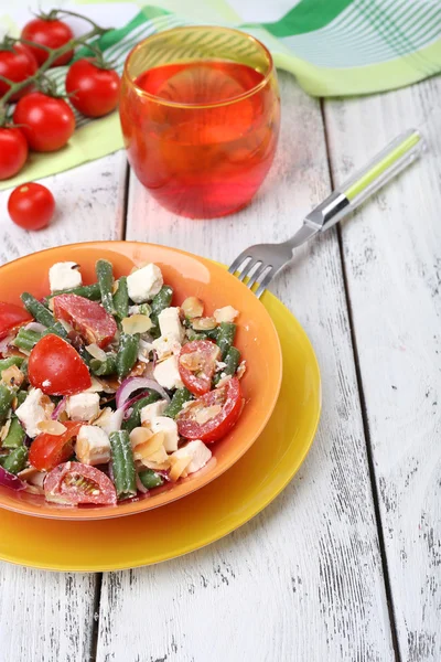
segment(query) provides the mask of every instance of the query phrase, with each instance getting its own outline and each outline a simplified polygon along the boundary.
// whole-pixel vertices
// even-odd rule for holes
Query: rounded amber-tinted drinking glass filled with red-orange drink
[[[259,41],[227,28],[175,28],[128,55],[120,119],[128,159],[165,209],[193,218],[249,203],[279,135],[276,70]]]

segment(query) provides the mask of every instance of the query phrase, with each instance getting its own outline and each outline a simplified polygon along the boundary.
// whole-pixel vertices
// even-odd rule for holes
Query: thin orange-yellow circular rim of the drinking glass
[[[136,55],[136,53],[138,51],[140,51],[142,47],[146,46],[147,42],[154,41],[155,39],[161,38],[164,34],[168,34],[170,32],[181,32],[181,31],[185,31],[185,30],[194,30],[194,29],[200,29],[200,28],[202,28],[202,29],[205,28],[206,30],[222,30],[224,32],[235,32],[236,34],[241,34],[241,35],[246,36],[247,39],[249,39],[250,41],[255,42],[255,44],[257,44],[257,46],[261,51],[263,51],[263,54],[268,58],[268,72],[265,74],[263,78],[257,85],[255,85],[254,87],[251,87],[251,89],[248,89],[247,92],[244,92],[234,97],[230,97],[229,99],[225,99],[223,102],[212,102],[211,104],[183,104],[180,102],[170,102],[170,100],[164,99],[154,94],[150,94],[150,92],[146,92],[144,89],[142,89],[142,87],[139,87],[136,84],[135,79],[132,78],[132,76],[129,74],[129,71],[128,71],[129,62],[131,61],[132,56]],[[171,64],[171,63],[169,63],[169,64]],[[151,67],[151,68],[153,68],[153,67]],[[146,70],[146,71],[149,71],[149,70]],[[237,102],[241,102],[243,99],[246,99],[249,96],[252,96],[254,94],[256,94],[257,92],[259,92],[267,85],[268,81],[273,75],[273,72],[275,72],[275,62],[272,60],[271,53],[269,52],[267,46],[260,40],[258,40],[256,36],[252,36],[252,34],[248,34],[247,32],[244,32],[243,30],[236,30],[235,28],[224,28],[223,25],[181,25],[179,28],[171,28],[170,30],[163,30],[161,32],[157,32],[155,34],[151,34],[150,36],[147,36],[144,40],[139,42],[139,44],[133,46],[133,49],[130,51],[130,53],[126,57],[122,77],[127,78],[129,84],[135,88],[136,93],[139,96],[147,97],[148,99],[151,99],[152,102],[155,102],[158,104],[162,104],[163,106],[171,106],[173,108],[187,108],[187,109],[191,109],[191,108],[200,109],[201,108],[201,109],[203,109],[203,108],[216,108],[216,107],[222,107],[222,106],[228,106],[230,104],[236,104]]]

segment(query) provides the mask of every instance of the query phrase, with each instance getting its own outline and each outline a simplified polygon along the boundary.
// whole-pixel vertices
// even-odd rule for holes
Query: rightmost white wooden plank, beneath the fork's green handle
[[[402,661],[441,659],[441,79],[326,102],[336,181],[409,127],[429,151],[343,225]]]

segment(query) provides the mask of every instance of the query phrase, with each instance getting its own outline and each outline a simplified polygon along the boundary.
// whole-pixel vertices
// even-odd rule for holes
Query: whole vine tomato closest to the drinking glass
[[[92,57],[74,62],[66,76],[72,105],[87,117],[101,117],[115,110],[120,84],[116,71],[97,66]]]

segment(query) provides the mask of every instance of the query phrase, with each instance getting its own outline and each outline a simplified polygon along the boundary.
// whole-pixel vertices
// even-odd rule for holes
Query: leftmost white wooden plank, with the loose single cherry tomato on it
[[[73,242],[122,237],[126,158],[122,152],[42,181],[57,214],[28,233],[10,221],[0,194],[0,261]],[[23,527],[23,544],[26,544]],[[78,544],[82,544],[78,541]],[[88,660],[93,648],[96,575],[45,573],[0,563],[0,662]]]

